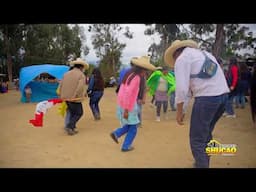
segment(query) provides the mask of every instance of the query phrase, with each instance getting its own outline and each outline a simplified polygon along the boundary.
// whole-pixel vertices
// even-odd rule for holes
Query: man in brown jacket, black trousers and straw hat
[[[64,74],[60,83],[60,98],[66,100],[68,106],[69,120],[65,130],[68,135],[77,133],[75,130],[77,121],[83,115],[82,101],[85,95],[84,70],[89,65],[80,58],[70,62],[73,69]]]

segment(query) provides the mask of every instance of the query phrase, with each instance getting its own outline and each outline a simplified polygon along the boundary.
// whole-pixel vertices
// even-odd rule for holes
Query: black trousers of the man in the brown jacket
[[[82,103],[75,103],[67,101],[68,110],[70,112],[70,118],[68,120],[67,128],[75,129],[76,123],[83,115]]]

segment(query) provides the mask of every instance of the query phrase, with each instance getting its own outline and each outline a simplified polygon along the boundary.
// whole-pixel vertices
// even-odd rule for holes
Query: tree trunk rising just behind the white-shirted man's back
[[[213,45],[213,55],[218,58],[221,55],[222,45],[224,41],[224,24],[217,24],[216,39]]]

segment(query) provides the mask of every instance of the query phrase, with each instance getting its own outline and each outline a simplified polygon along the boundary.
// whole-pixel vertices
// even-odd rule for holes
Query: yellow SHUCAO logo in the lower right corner
[[[205,152],[208,155],[235,155],[237,152],[236,144],[221,144],[220,142],[212,139],[206,146]]]

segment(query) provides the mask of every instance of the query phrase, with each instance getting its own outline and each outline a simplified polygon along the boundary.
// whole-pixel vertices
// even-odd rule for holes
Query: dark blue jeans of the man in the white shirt
[[[227,99],[227,94],[195,98],[189,136],[196,168],[209,168],[210,157],[205,148],[212,139],[212,131],[225,110]]]

